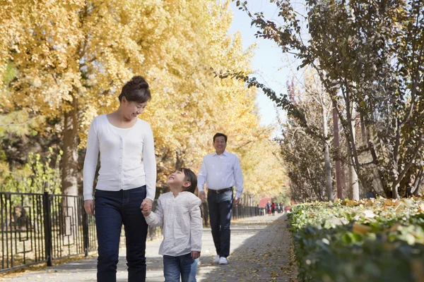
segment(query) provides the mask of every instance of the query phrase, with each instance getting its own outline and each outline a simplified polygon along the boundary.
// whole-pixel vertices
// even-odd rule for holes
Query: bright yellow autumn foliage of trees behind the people
[[[223,132],[242,161],[245,189],[279,194],[278,146],[259,124],[257,92],[210,73],[250,71],[252,49],[228,35],[228,3],[0,0],[0,75],[11,76],[0,81],[0,114],[63,118],[76,104],[83,148],[94,116],[117,109],[124,82],[143,75],[153,99],[141,118],[155,135],[159,185],[176,166],[198,169]]]

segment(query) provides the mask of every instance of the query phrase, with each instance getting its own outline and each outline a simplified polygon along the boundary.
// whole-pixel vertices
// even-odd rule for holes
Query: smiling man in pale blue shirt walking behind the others
[[[199,171],[199,197],[205,199],[204,185],[208,187],[209,219],[216,248],[214,263],[228,264],[230,255],[230,220],[232,206],[240,202],[243,176],[240,161],[235,154],[225,151],[228,137],[223,133],[213,136],[216,152],[207,154]],[[232,187],[235,186],[235,197]]]

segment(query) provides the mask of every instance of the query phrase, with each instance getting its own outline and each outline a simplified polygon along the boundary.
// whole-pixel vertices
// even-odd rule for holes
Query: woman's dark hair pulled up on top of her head
[[[134,76],[122,87],[122,92],[118,97],[119,102],[122,102],[122,97],[125,97],[128,102],[148,102],[151,99],[148,83],[142,76]]]

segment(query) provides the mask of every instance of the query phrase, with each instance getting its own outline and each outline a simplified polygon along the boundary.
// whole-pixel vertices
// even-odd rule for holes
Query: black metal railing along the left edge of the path
[[[237,205],[232,210],[232,219],[259,215],[259,207]],[[207,204],[202,216],[207,226]],[[52,266],[54,259],[97,250],[95,218],[86,214],[82,196],[0,192],[0,222],[0,272],[39,263]],[[149,227],[149,239],[160,236],[162,228]]]

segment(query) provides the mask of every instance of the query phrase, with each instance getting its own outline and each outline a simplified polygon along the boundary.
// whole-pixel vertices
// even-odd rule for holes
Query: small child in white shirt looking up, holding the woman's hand
[[[196,264],[201,252],[201,200],[194,195],[196,175],[189,168],[180,168],[167,180],[170,192],[160,195],[158,207],[143,206],[142,213],[150,226],[163,226],[163,255],[165,282],[196,281]]]

